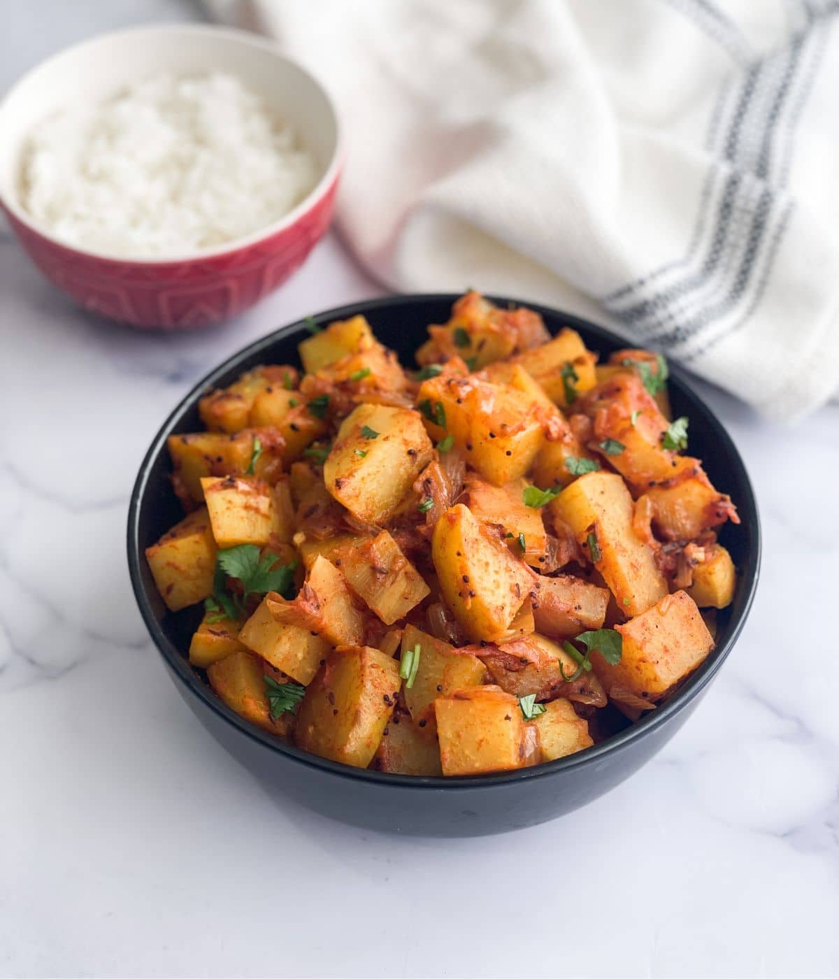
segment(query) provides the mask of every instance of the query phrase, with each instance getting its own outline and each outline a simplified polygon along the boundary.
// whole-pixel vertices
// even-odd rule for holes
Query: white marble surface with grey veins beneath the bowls
[[[836,408],[779,431],[703,388],[758,491],[762,585],[673,742],[575,816],[367,833],[269,796],[186,709],[125,569],[143,452],[223,357],[376,294],[333,236],[239,322],[143,335],[0,240],[0,974],[837,974]]]

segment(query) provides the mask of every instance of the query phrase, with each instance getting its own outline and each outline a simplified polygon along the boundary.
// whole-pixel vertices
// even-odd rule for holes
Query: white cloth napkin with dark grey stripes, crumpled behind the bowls
[[[794,419],[839,389],[827,0],[209,0],[337,100],[401,291],[552,303]]]

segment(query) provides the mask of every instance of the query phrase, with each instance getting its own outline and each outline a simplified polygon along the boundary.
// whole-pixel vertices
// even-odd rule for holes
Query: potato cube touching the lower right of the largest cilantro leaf
[[[317,633],[312,634],[311,629],[278,622],[272,613],[277,606],[282,608],[282,599],[270,592],[242,627],[239,640],[272,667],[305,686],[332,647]]]

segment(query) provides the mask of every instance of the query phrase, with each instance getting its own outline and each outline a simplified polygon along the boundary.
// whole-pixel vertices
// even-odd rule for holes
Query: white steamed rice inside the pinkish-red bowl
[[[317,179],[295,134],[233,75],[155,75],[32,132],[22,203],[70,245],[183,256],[242,238]]]

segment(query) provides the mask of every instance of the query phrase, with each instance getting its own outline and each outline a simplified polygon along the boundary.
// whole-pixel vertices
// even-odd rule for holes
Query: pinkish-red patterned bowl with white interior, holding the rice
[[[300,134],[318,163],[314,189],[247,238],[185,256],[85,251],[53,237],[20,204],[26,136],[56,110],[106,97],[158,71],[238,74]],[[192,327],[242,312],[284,282],[329,226],[341,170],[338,119],[321,86],[273,44],[244,31],[161,25],[105,34],[24,75],[0,105],[0,204],[27,254],[86,309],[147,327]]]

